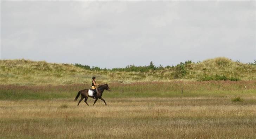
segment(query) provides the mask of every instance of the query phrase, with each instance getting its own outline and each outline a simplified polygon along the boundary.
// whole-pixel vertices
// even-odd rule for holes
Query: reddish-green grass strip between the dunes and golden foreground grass
[[[108,85],[111,92],[105,91],[103,98],[256,96],[256,81],[169,81]],[[0,100],[70,99],[74,98],[78,91],[89,87],[83,84],[0,85]]]

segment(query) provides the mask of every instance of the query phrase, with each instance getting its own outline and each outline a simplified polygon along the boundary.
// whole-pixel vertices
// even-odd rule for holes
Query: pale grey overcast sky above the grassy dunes
[[[101,68],[256,59],[256,1],[0,1],[0,59]]]

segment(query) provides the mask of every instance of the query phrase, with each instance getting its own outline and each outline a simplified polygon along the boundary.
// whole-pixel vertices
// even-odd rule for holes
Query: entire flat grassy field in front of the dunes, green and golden
[[[109,87],[76,106],[82,84],[0,85],[0,138],[256,138],[256,81]]]

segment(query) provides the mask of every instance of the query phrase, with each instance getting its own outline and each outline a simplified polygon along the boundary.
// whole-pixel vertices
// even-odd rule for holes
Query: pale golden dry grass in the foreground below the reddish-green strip
[[[0,100],[0,138],[256,138],[256,97],[243,100]]]

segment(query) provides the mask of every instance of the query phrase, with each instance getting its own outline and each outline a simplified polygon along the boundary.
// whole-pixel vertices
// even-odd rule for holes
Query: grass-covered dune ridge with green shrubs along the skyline
[[[66,85],[88,84],[96,76],[102,82],[145,82],[171,80],[256,80],[255,63],[243,64],[228,58],[190,60],[176,66],[128,65],[125,68],[101,69],[81,64],[51,64],[45,61],[0,60],[0,84]]]

